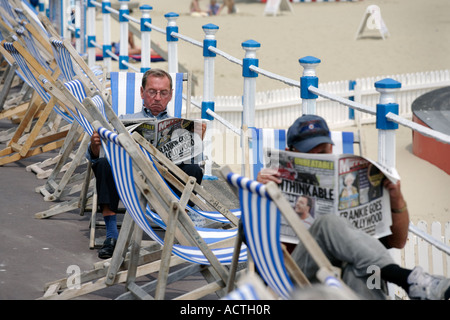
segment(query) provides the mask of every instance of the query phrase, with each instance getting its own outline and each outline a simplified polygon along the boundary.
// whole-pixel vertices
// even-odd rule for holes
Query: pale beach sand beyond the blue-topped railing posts
[[[278,16],[264,16],[265,4],[258,1],[236,1],[237,14],[213,17],[192,17],[188,13],[189,1],[161,0],[149,4],[153,6],[155,26],[165,28],[164,14],[176,12],[180,15],[179,33],[196,41],[204,39],[203,25],[219,26],[217,47],[237,59],[244,58],[242,42],[259,42],[259,66],[289,79],[299,79],[303,69],[298,60],[308,55],[322,61],[317,68],[320,82],[450,68],[450,1],[446,0],[292,3],[293,12]],[[207,1],[201,4],[206,8]],[[372,4],[380,7],[389,36],[383,40],[376,30],[366,29],[364,37],[356,40],[365,10]],[[139,11],[133,16],[140,17]],[[166,49],[164,35],[153,31],[151,37]],[[201,48],[180,40],[178,56],[180,64],[197,77],[195,94],[201,95]],[[155,63],[152,67],[166,68],[167,64]],[[220,56],[215,62],[214,81],[215,96],[242,94],[241,67]],[[264,76],[257,80],[257,91],[285,86]],[[367,156],[377,159],[376,129],[365,125],[363,135]],[[411,144],[411,130],[401,127],[397,132],[396,163],[411,220],[450,221],[450,175],[414,156]]]

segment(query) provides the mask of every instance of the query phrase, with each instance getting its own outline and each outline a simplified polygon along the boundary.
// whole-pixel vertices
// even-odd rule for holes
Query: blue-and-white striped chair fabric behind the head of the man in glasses
[[[111,72],[112,108],[118,116],[142,110],[140,88],[143,75],[139,72]],[[183,74],[170,75],[174,91],[172,100],[167,105],[167,113],[180,118],[183,105]]]

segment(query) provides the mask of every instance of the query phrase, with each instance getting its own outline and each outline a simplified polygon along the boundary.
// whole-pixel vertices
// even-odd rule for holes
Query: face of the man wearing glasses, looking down
[[[172,99],[169,79],[149,77],[145,88],[141,87],[141,98],[144,100],[144,107],[150,110],[154,116],[160,114]]]

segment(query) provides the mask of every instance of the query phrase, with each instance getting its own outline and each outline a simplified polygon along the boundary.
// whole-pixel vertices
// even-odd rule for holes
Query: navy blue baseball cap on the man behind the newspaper
[[[287,144],[300,152],[309,152],[322,143],[333,143],[330,137],[330,129],[322,117],[316,115],[303,115],[289,127],[287,132]]]

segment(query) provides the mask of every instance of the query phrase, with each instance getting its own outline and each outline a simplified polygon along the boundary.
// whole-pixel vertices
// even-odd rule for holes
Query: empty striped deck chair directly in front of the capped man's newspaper
[[[342,290],[350,299],[356,298],[356,295],[341,281],[339,270],[328,261],[275,183],[263,185],[231,172],[228,167],[222,168],[222,175],[238,189],[243,233],[252,261],[267,286],[280,298],[289,299],[297,287],[310,286],[303,272],[282,247],[281,215],[288,221],[317,263],[319,281]],[[236,239],[239,240],[240,237]],[[232,275],[230,277],[232,278]]]

